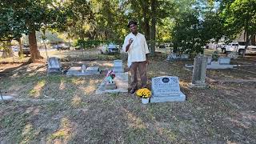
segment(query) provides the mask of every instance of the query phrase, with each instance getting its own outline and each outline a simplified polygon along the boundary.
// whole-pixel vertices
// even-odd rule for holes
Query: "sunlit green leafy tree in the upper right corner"
[[[234,40],[242,30],[246,32],[246,48],[256,34],[256,1],[255,0],[223,0],[220,14],[226,30],[226,37]],[[246,54],[246,49],[242,54]]]

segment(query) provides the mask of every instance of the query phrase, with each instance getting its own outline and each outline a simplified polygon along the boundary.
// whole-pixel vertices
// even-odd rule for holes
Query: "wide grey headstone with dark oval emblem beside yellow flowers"
[[[186,96],[180,90],[178,77],[152,78],[150,102],[184,102],[185,100]]]

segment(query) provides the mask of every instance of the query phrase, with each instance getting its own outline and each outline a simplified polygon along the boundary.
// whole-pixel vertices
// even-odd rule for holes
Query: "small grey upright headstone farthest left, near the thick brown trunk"
[[[48,69],[47,69],[48,73],[59,73],[62,71],[62,66],[59,58],[50,57],[47,60],[47,64],[48,64]]]

